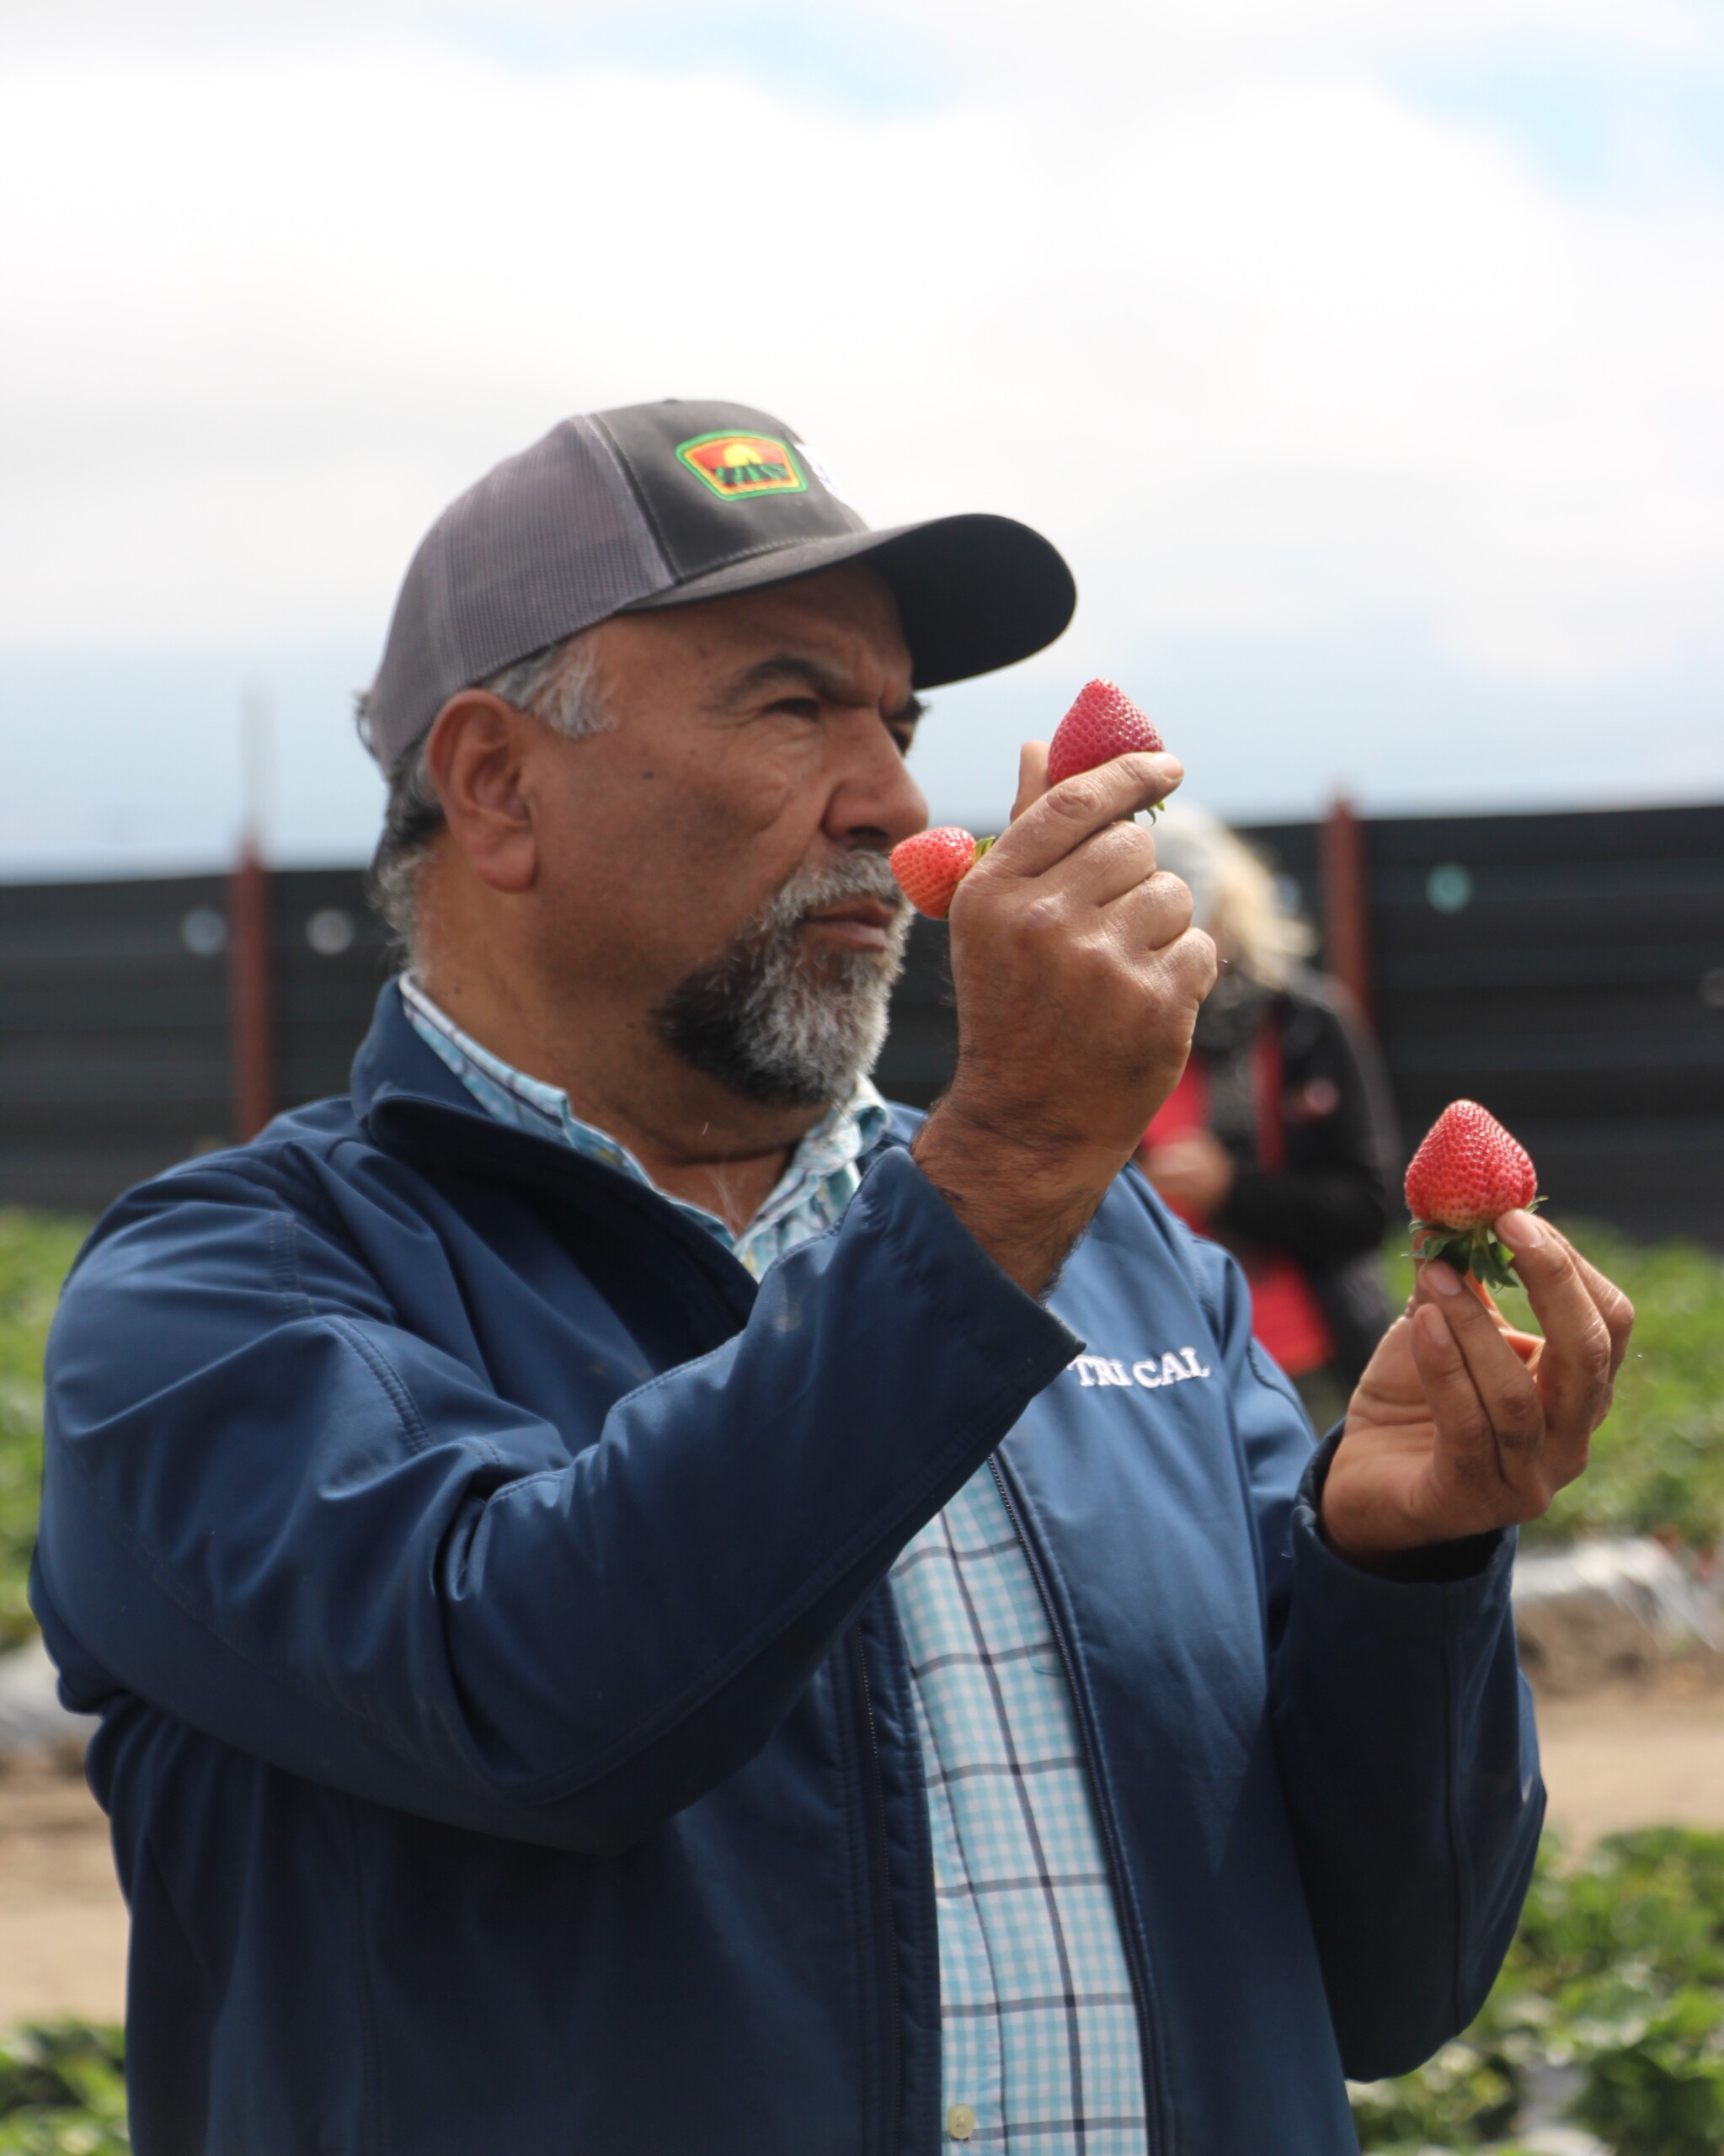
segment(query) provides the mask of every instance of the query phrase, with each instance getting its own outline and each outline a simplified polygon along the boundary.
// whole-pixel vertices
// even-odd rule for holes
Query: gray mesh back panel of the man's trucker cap
[[[388,770],[457,690],[670,582],[599,429],[552,427],[420,541],[369,701],[377,761]]]

